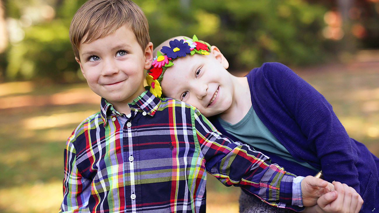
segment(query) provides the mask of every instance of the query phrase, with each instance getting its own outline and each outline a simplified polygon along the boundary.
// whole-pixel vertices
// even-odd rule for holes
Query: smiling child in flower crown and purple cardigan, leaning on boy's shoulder
[[[152,92],[193,105],[222,134],[296,175],[322,170],[325,180],[351,186],[365,200],[363,212],[379,209],[379,159],[349,138],[326,99],[287,66],[264,63],[236,77],[221,51],[196,36],[168,39],[154,53]]]

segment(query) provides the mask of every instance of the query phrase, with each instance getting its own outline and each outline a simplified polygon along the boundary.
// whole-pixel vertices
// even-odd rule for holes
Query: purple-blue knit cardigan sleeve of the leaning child
[[[266,63],[261,68],[266,87],[307,138],[326,180],[346,183],[359,192],[357,151],[329,102],[287,66]]]

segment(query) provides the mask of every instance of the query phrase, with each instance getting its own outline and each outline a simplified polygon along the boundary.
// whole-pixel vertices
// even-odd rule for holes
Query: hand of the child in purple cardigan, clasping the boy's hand
[[[362,207],[362,197],[355,189],[345,183],[333,182],[336,191],[324,194],[313,207],[307,207],[305,212],[316,213],[358,213]],[[338,194],[338,195],[337,195]]]

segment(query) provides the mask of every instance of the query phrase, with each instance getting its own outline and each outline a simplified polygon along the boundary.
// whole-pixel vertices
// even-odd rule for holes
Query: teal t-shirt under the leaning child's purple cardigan
[[[253,107],[251,107],[245,117],[236,124],[230,124],[222,120],[220,117],[218,117],[218,120],[221,126],[228,133],[236,137],[241,142],[260,150],[275,153],[275,155],[278,155],[288,161],[292,161],[318,171],[316,167],[311,166],[309,163],[297,161],[293,158],[284,145],[280,143],[280,141],[262,123]]]

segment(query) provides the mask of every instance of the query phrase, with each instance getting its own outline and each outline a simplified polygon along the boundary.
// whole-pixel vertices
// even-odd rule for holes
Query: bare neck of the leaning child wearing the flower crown
[[[238,123],[249,112],[251,107],[250,88],[247,77],[232,77],[234,87],[233,101],[229,109],[222,112],[219,116],[222,120],[231,124]]]

